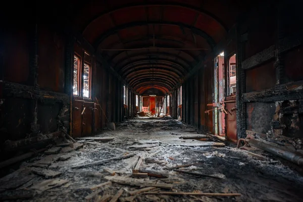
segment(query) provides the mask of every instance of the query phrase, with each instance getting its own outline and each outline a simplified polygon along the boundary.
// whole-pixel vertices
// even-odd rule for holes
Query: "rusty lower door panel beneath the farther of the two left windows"
[[[84,102],[83,103],[85,111],[82,115],[82,136],[89,136],[92,133],[92,109],[94,103]],[[83,109],[84,109],[83,108]]]

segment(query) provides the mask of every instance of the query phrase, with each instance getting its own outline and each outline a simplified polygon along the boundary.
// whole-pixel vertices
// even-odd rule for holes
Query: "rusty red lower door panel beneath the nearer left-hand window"
[[[81,137],[82,135],[82,117],[83,102],[81,100],[73,101],[73,137]]]

